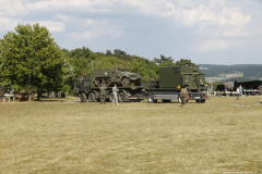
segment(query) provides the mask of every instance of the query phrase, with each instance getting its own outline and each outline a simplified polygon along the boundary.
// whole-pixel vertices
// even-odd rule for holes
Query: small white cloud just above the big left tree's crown
[[[38,23],[40,26],[46,26],[49,32],[64,32],[66,24],[61,22],[52,22],[52,21],[29,21],[29,22],[24,22],[26,24],[34,25]]]

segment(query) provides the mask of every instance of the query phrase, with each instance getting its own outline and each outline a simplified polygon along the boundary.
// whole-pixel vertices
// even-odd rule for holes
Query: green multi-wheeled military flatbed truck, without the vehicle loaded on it
[[[103,72],[103,71],[100,71]],[[100,73],[99,72],[99,73]],[[111,70],[107,71],[104,70],[104,73],[108,72],[112,73]],[[106,99],[109,101],[112,101],[112,85],[116,83],[118,84],[114,78],[112,80],[109,80],[107,78],[108,75],[102,75],[98,76],[97,72],[96,75],[88,75],[84,77],[80,77],[73,82],[74,85],[74,96],[79,96],[81,102],[85,102],[86,100],[88,101],[99,101],[100,100],[100,90],[99,90],[99,85],[102,83],[106,84],[107,89],[106,89]],[[111,77],[111,76],[109,76]],[[135,83],[133,82],[132,77],[129,76],[127,77],[130,82],[129,86],[118,86],[117,88],[119,89],[118,91],[118,101],[119,102],[126,102],[126,101],[141,101],[145,99],[145,92],[143,90],[143,86],[135,86]],[[97,83],[97,80],[100,80]],[[104,82],[103,82],[104,80]],[[110,83],[109,83],[110,82]],[[119,82],[120,84],[121,82]]]

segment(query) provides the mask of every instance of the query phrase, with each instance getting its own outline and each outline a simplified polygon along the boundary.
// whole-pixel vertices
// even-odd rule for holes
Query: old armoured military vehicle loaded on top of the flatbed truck
[[[134,86],[141,85],[141,76],[135,73],[130,73],[128,69],[107,69],[107,70],[96,70],[94,71],[94,82],[97,86],[105,83],[107,86],[118,86],[128,87],[131,83]]]

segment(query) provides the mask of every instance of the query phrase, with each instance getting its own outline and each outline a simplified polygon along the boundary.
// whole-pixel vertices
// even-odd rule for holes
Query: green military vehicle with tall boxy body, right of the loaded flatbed
[[[204,91],[205,75],[201,73],[199,66],[163,66],[158,70],[158,79],[153,79],[146,85],[148,102],[170,102],[180,100],[181,88],[189,91],[188,100],[195,100],[204,103],[207,99]]]

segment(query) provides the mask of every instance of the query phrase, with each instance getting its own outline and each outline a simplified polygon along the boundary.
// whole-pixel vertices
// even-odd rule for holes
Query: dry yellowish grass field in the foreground
[[[0,173],[262,172],[260,97],[0,103]]]

